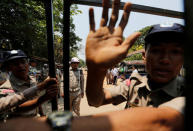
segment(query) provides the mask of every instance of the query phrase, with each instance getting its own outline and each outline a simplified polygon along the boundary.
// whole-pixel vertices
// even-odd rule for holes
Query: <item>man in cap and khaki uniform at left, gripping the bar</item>
[[[10,78],[0,86],[1,119],[36,116],[37,107],[56,96],[55,78],[49,78],[37,85],[35,79],[28,75],[29,64],[23,51],[10,51],[3,64],[10,71]]]

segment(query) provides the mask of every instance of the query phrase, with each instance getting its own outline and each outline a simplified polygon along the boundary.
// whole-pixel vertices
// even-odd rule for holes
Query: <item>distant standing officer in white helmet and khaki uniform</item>
[[[70,61],[70,108],[74,116],[80,115],[80,101],[84,96],[84,75],[79,63],[77,57]]]

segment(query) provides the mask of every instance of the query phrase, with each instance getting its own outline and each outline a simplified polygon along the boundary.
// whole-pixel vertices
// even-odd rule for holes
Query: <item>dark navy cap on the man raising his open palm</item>
[[[177,23],[153,25],[145,37],[145,45],[169,41],[184,43],[184,26]]]

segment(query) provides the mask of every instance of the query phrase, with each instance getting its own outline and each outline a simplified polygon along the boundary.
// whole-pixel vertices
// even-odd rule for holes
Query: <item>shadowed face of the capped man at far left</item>
[[[14,76],[25,80],[28,78],[29,64],[25,58],[15,59],[9,62],[9,70]]]

